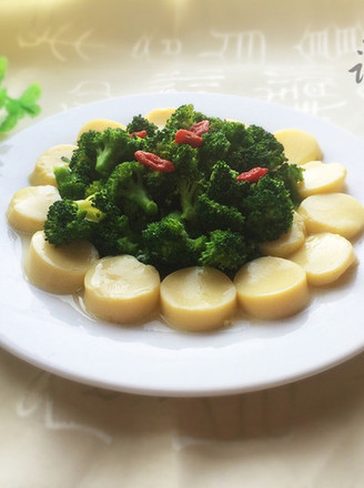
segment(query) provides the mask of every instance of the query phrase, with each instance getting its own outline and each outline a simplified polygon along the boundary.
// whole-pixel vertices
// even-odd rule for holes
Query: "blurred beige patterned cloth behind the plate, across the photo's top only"
[[[1,0],[9,83],[37,80],[42,116],[131,93],[247,95],[363,135],[361,2]],[[351,116],[347,116],[347,114]]]

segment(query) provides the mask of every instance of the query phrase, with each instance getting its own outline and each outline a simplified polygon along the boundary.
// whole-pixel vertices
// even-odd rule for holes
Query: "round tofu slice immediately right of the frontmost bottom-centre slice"
[[[306,273],[292,261],[263,256],[245,264],[234,284],[241,307],[263,319],[276,319],[303,309],[310,299]]]

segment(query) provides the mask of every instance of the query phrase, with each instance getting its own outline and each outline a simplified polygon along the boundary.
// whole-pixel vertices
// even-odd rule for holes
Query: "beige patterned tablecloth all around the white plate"
[[[7,85],[41,84],[38,120],[198,91],[289,105],[364,138],[364,81],[348,72],[363,39],[357,0],[0,0]],[[1,488],[364,486],[363,355],[264,392],[161,398],[75,384],[2,350],[0,392]]]

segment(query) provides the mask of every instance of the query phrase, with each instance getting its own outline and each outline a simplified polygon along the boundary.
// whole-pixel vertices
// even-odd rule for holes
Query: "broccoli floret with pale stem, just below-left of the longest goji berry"
[[[138,210],[153,216],[158,213],[158,205],[146,193],[143,183],[145,171],[148,169],[136,161],[121,163],[109,176],[104,191],[120,209],[129,209],[129,213],[134,213],[133,206],[136,205]]]

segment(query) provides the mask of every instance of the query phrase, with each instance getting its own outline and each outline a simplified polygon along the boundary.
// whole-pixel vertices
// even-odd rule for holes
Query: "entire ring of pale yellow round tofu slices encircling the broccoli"
[[[163,126],[175,109],[156,109],[145,118]],[[115,121],[87,122],[79,136]],[[310,285],[338,279],[356,257],[351,238],[364,228],[364,207],[344,193],[346,169],[323,163],[314,135],[299,129],[274,133],[289,163],[300,165],[301,204],[293,224],[279,240],[261,244],[263,256],[246,263],[231,279],[212,267],[192,266],[165,276],[130,255],[99,258],[87,242],[50,245],[42,231],[49,206],[60,199],[53,167],[68,164],[72,144],[61,144],[38,159],[30,175],[33,186],[18,191],[7,216],[18,231],[33,234],[24,257],[28,279],[50,293],[82,293],[85,311],[99,319],[129,324],[160,312],[165,322],[186,331],[208,331],[231,323],[242,308],[251,316],[277,319],[310,303]]]

